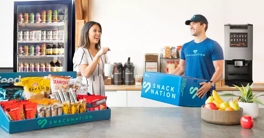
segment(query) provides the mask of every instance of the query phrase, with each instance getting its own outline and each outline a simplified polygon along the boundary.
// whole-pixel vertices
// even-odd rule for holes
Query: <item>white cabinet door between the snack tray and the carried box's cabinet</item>
[[[127,95],[124,90],[106,90],[106,106],[108,107],[127,107]]]

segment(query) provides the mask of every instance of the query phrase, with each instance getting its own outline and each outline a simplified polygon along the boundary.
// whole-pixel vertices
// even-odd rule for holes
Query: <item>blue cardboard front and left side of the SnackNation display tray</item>
[[[111,109],[88,111],[77,114],[63,114],[60,116],[34,118],[20,121],[10,121],[5,111],[0,108],[1,128],[7,133],[19,133],[25,131],[39,130],[51,127],[60,127],[71,124],[86,123],[92,121],[106,120],[111,118]]]

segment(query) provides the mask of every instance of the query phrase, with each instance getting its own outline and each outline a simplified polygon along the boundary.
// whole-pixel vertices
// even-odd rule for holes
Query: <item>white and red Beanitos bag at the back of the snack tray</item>
[[[55,93],[61,87],[66,89],[69,85],[70,78],[51,75],[51,93]]]

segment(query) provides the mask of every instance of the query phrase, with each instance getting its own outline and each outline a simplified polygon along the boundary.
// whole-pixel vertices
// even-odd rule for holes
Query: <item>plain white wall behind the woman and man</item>
[[[253,24],[253,81],[263,83],[262,5],[259,0],[90,0],[89,20],[102,25],[102,45],[112,50],[109,60],[124,64],[130,57],[137,74],[143,74],[144,53],[193,39],[184,22],[194,14],[207,18],[206,35],[223,50],[224,24]]]

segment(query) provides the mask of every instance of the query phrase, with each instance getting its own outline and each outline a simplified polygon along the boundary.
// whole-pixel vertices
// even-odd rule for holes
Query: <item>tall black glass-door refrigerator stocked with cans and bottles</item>
[[[14,2],[14,72],[73,71],[73,0]]]

